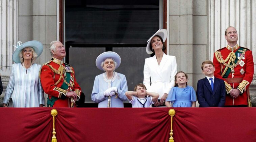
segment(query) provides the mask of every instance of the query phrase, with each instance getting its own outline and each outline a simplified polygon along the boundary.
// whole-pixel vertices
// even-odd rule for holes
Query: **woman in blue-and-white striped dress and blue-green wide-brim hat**
[[[43,107],[44,90],[41,86],[39,71],[41,65],[34,61],[43,52],[41,42],[32,40],[18,42],[12,54],[12,72],[5,91],[4,107],[12,103],[13,107]],[[9,106],[10,107],[10,106]]]

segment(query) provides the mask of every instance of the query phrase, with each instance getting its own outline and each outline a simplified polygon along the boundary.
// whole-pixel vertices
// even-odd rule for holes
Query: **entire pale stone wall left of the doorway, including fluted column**
[[[0,0],[0,74],[4,91],[11,73],[12,53],[17,41],[38,40],[44,46],[37,64],[50,60],[49,44],[57,40],[57,0]]]

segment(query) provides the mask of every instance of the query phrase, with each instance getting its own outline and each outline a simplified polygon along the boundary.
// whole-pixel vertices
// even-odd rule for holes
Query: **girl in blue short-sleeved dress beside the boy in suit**
[[[170,90],[165,105],[167,107],[196,107],[196,92],[187,85],[187,74],[180,71],[175,75],[175,86]]]

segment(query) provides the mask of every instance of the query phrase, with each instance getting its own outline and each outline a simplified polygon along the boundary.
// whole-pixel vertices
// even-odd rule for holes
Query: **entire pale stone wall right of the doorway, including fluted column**
[[[226,46],[228,26],[236,27],[238,44],[252,50],[256,63],[255,7],[255,0],[170,0],[169,54],[176,56],[178,71],[189,75],[188,85],[196,90],[197,81],[205,77],[201,63],[212,60],[213,53]],[[253,106],[256,106],[255,77],[250,86]]]

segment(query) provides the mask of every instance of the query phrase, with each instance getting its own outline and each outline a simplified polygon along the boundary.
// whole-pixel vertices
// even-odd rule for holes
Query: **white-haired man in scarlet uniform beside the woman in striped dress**
[[[50,44],[52,59],[42,66],[40,79],[44,91],[48,94],[48,107],[74,107],[81,88],[76,82],[73,67],[63,63],[65,47],[60,41]]]

